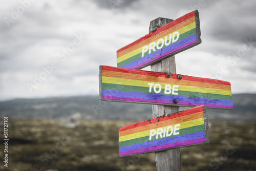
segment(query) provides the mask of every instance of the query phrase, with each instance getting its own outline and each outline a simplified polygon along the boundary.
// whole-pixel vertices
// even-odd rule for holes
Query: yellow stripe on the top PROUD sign
[[[196,28],[196,22],[191,23],[190,25],[187,25],[187,26],[185,26],[185,27],[183,27],[183,28],[181,28],[181,29],[179,29],[179,30],[176,30],[176,31],[178,31],[179,34],[183,34],[183,33],[187,32],[187,31],[189,31],[189,30],[191,30],[191,29],[194,29],[194,28]],[[176,32],[176,31],[174,31],[174,32]],[[168,34],[166,34],[165,36],[167,36],[167,35],[169,35],[169,34],[173,34],[174,32],[168,33]],[[161,34],[161,33],[160,33],[160,34]],[[161,38],[164,39],[165,36],[163,36],[163,37],[161,37]],[[167,37],[168,37],[167,40],[169,40],[169,36],[167,36]],[[159,39],[161,39],[161,38],[159,38]],[[155,41],[152,41],[152,42],[156,42],[156,43],[157,43],[157,41],[158,41],[159,39],[157,39],[157,40],[155,40]],[[144,46],[149,46],[152,42],[150,42],[150,43],[148,43],[147,45],[144,45]],[[143,47],[144,47],[144,46],[143,46]],[[127,54],[125,54],[125,55],[123,55],[123,56],[117,58],[117,63],[119,63],[119,62],[121,62],[121,61],[123,61],[123,60],[125,60],[125,59],[128,59],[128,58],[130,58],[130,57],[132,57],[132,56],[135,56],[135,55],[141,53],[143,47],[140,47],[140,48],[138,48],[138,49],[136,49],[136,50],[134,50],[134,51],[132,51],[132,52],[129,52],[129,53],[127,53]]]

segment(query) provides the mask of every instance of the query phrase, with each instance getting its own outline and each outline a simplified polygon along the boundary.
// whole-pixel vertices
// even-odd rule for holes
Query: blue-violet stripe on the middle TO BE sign
[[[168,103],[173,104],[173,100],[177,99],[179,102],[191,102],[191,103],[206,103],[206,104],[219,104],[219,105],[232,105],[231,100],[220,100],[200,97],[186,97],[186,96],[174,96],[167,94],[154,94],[154,93],[141,93],[141,92],[128,92],[119,90],[102,90],[103,96],[114,96],[114,97],[127,97],[127,98],[139,98],[139,99],[150,99],[150,100],[164,100],[169,101]]]

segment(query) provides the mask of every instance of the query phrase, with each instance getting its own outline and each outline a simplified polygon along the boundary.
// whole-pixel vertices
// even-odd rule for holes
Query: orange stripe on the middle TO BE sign
[[[149,76],[149,75],[106,71],[106,70],[102,70],[102,76],[113,77],[113,78],[124,78],[124,79],[131,79],[131,80],[161,82],[161,83],[169,83],[169,84],[178,84],[183,86],[193,86],[193,87],[210,88],[210,89],[230,90],[230,86],[223,85],[223,84],[188,81],[188,80],[182,80],[182,79],[178,80],[173,78],[164,78],[164,77],[156,77],[156,76]]]

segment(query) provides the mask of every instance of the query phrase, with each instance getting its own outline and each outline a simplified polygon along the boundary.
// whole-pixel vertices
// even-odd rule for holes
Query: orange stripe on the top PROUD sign
[[[181,22],[181,23],[179,23],[179,24],[177,24],[177,25],[175,25],[175,26],[173,26],[173,27],[171,27],[169,29],[166,29],[165,31],[162,31],[159,34],[156,34],[152,38],[147,38],[147,39],[139,42],[138,44],[136,44],[136,45],[134,45],[134,46],[132,46],[130,48],[127,48],[127,49],[117,53],[117,58],[119,58],[119,57],[121,57],[121,56],[123,56],[123,55],[125,55],[127,53],[130,53],[130,52],[132,52],[132,51],[134,51],[134,50],[136,50],[136,49],[138,49],[138,48],[140,48],[140,47],[142,47],[144,45],[147,45],[150,42],[153,42],[153,41],[163,37],[164,35],[167,35],[168,33],[172,33],[175,30],[179,30],[179,29],[181,29],[181,28],[183,28],[183,27],[185,27],[185,26],[187,26],[187,25],[189,25],[191,23],[194,23],[194,22],[196,22],[195,15],[193,17],[189,18],[189,19],[184,20],[184,22]]]

